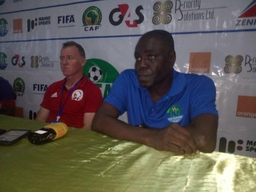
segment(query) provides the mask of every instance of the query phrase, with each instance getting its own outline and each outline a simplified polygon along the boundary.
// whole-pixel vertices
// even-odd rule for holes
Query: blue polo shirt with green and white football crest
[[[127,111],[131,125],[164,128],[172,123],[189,125],[197,115],[211,113],[215,108],[216,90],[212,79],[204,75],[184,74],[173,69],[170,90],[156,103],[148,90],[141,87],[134,69],[124,70],[114,82],[104,102]]]

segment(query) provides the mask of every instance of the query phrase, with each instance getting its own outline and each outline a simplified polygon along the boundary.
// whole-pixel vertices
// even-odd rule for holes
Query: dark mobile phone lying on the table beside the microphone
[[[0,135],[0,145],[12,145],[14,142],[26,137],[30,130],[12,129]]]

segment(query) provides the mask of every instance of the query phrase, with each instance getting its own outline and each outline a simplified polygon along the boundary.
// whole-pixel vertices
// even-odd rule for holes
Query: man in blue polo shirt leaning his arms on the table
[[[117,77],[92,130],[175,154],[212,152],[218,129],[213,81],[173,69],[173,38],[164,30],[144,34],[134,56],[135,70]],[[125,111],[129,124],[117,119]]]

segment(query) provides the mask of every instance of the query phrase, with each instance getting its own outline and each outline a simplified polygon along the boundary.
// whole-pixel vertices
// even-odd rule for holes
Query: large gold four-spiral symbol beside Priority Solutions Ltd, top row
[[[154,10],[154,17],[152,18],[152,22],[154,25],[158,25],[161,22],[163,24],[168,24],[172,21],[172,2],[166,1],[164,3],[162,2],[156,2],[153,5]]]

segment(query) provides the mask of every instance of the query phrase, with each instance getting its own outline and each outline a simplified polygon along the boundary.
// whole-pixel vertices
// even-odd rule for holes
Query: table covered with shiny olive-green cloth
[[[0,115],[0,129],[46,123]],[[218,153],[173,156],[69,127],[37,146],[0,146],[0,191],[256,191],[256,158]]]

